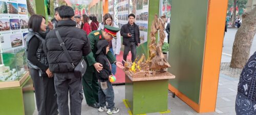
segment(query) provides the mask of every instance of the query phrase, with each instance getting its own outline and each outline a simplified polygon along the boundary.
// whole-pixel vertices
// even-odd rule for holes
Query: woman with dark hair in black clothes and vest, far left
[[[55,95],[53,74],[49,70],[43,44],[46,37],[46,20],[40,15],[29,19],[29,33],[26,38],[26,57],[30,76],[35,89],[38,115],[56,115],[58,106]]]

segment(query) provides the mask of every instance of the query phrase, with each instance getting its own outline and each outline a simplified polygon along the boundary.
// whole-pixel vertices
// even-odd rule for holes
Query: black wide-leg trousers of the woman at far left
[[[29,69],[29,72],[34,84],[38,115],[58,114],[54,79],[47,76],[39,77],[38,70],[35,69]]]

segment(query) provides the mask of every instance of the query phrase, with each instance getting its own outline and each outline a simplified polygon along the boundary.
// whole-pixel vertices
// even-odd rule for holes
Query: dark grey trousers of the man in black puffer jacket
[[[54,73],[59,114],[69,114],[69,97],[71,115],[81,114],[81,104],[83,99],[81,82],[82,78],[76,77],[74,73]]]

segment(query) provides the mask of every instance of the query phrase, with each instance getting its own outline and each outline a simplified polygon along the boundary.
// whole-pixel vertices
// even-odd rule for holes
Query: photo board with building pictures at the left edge
[[[0,0],[1,53],[12,53],[24,47],[28,20],[26,0]]]

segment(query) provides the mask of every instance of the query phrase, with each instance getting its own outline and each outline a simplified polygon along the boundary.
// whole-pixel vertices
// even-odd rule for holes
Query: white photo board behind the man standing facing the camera
[[[135,24],[140,30],[140,42],[147,41],[148,0],[110,0],[109,13],[119,28],[128,23],[129,14],[135,14]]]

